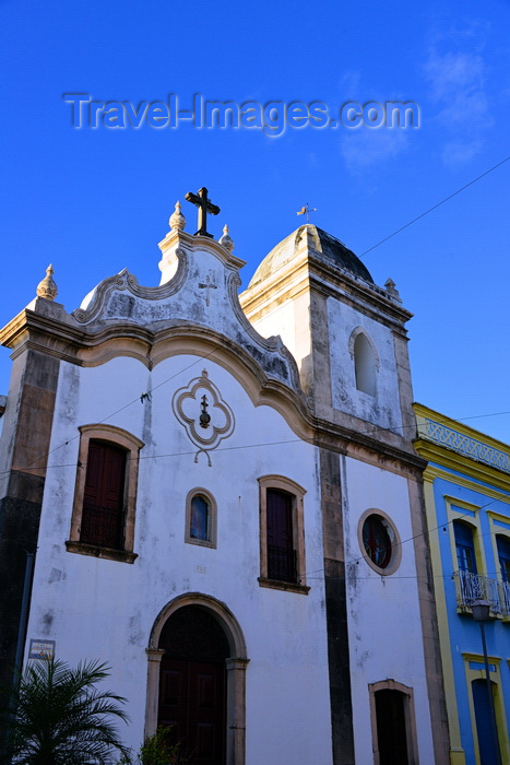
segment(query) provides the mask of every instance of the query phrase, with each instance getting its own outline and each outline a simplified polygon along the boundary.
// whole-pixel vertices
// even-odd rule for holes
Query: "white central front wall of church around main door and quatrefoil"
[[[206,369],[232,408],[236,426],[212,467],[176,420],[174,392]],[[151,390],[151,401],[140,395]],[[69,553],[79,425],[106,422],[145,444],[141,450],[134,564]],[[258,476],[281,474],[305,495],[307,570],[323,567],[315,447],[299,440],[281,414],[254,408],[240,382],[212,358],[174,356],[153,372],[117,357],[96,367],[61,363],[40,521],[31,638],[55,639],[60,659],[111,664],[108,685],[129,699],[131,725],[143,737],[151,628],[159,611],[185,592],[224,602],[240,624],[247,669],[247,765],[328,765],[331,722],[324,592],[308,596],[261,588]],[[217,549],[185,543],[185,499],[204,487],[217,503]]]

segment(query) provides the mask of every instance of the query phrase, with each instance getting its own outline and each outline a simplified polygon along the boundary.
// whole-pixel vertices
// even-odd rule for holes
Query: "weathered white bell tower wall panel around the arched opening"
[[[393,334],[384,325],[333,297],[328,298],[333,407],[381,427],[401,428],[402,415],[395,365]],[[349,338],[361,327],[371,339],[379,357],[376,396],[357,390]]]

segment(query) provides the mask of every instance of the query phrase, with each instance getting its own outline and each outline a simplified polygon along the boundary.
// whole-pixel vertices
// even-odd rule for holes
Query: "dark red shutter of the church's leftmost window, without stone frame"
[[[126,451],[112,444],[91,440],[83,495],[82,542],[123,549],[124,478]]]

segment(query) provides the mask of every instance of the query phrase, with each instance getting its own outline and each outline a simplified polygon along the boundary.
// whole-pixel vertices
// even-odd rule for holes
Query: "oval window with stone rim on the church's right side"
[[[367,510],[359,520],[361,552],[378,574],[392,574],[399,566],[401,550],[396,529],[381,510]]]

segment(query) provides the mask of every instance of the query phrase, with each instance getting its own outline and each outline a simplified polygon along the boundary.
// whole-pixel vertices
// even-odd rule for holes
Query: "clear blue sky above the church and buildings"
[[[156,285],[159,242],[201,186],[228,223],[244,285],[303,219],[360,255],[510,155],[510,2],[0,1],[7,323],[49,262],[71,311],[128,268]],[[410,101],[419,128],[74,129],[63,94],[167,102]],[[364,257],[408,323],[416,400],[510,442],[510,162]],[[188,208],[186,210],[186,208]],[[7,392],[9,351],[0,354]],[[505,412],[505,414],[496,413]],[[484,416],[481,416],[484,415]],[[490,415],[490,416],[489,416]]]

